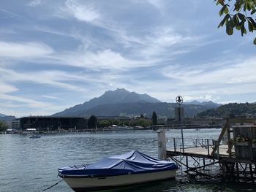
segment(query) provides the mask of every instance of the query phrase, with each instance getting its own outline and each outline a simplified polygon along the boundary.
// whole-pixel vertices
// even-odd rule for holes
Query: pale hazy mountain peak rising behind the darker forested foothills
[[[115,91],[106,91],[102,96],[86,101],[83,104],[75,105],[63,112],[58,112],[53,116],[75,116],[80,112],[92,109],[94,107],[105,104],[124,104],[134,102],[147,102],[147,103],[159,103],[158,99],[155,99],[147,94],[138,94],[135,92],[129,92],[124,88],[118,88]]]

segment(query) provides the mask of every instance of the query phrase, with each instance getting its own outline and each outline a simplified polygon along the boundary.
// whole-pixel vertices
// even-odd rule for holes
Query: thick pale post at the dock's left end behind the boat
[[[165,138],[165,128],[159,128],[157,131],[158,140],[158,159],[166,159],[166,138]]]

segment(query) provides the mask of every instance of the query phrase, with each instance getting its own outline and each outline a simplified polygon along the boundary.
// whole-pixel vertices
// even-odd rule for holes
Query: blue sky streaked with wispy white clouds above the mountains
[[[0,112],[51,115],[108,90],[255,102],[255,34],[211,0],[0,1]]]

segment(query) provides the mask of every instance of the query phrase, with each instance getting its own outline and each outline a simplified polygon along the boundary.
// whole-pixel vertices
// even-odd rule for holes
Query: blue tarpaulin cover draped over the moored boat
[[[103,158],[94,164],[64,166],[58,169],[60,176],[110,176],[147,172],[162,172],[178,169],[170,161],[159,161],[148,155],[132,150],[122,155]]]

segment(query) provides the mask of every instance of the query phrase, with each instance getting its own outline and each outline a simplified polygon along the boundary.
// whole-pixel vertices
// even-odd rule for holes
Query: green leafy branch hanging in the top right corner
[[[255,12],[256,0],[214,0],[217,5],[221,5],[219,15],[225,15],[219,23],[219,27],[226,26],[226,33],[233,34],[234,28],[241,31],[241,36],[249,32],[256,31]],[[230,5],[232,7],[230,7]],[[256,45],[256,37],[253,41]]]

